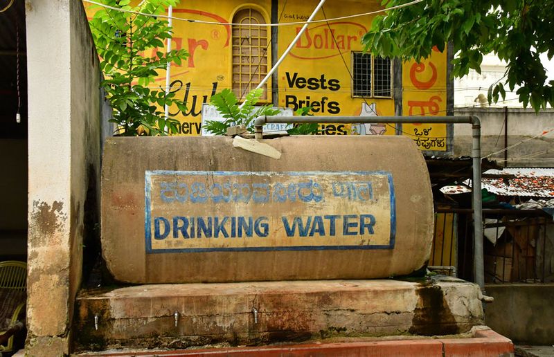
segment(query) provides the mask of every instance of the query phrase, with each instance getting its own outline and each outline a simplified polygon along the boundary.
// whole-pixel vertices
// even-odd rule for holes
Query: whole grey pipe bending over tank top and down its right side
[[[483,205],[481,199],[481,120],[476,116],[259,116],[254,120],[254,134],[257,140],[263,138],[266,123],[421,123],[421,124],[471,124],[472,166],[473,166],[473,212],[474,212],[474,274],[481,289],[485,286],[485,265],[483,262]]]

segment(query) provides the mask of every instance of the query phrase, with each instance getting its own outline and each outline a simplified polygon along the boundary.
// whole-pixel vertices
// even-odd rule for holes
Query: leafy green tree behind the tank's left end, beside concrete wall
[[[101,0],[107,6],[123,10],[157,15],[165,12],[178,0],[145,0],[131,6],[130,0]],[[111,122],[118,125],[116,134],[166,135],[177,132],[179,121],[164,116],[164,105],[175,104],[186,110],[185,104],[166,95],[155,84],[158,71],[170,62],[181,64],[188,57],[184,50],[165,51],[164,41],[171,37],[168,21],[98,7],[89,25],[100,56],[102,82],[113,109]]]

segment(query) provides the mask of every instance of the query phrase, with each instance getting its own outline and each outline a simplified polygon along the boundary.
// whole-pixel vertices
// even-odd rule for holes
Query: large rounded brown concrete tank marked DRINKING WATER
[[[109,138],[102,255],[120,282],[371,279],[431,251],[427,166],[402,136]]]

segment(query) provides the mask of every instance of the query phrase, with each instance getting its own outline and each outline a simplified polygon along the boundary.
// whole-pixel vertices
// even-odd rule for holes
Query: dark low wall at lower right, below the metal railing
[[[524,345],[554,344],[554,284],[488,284],[485,323]]]

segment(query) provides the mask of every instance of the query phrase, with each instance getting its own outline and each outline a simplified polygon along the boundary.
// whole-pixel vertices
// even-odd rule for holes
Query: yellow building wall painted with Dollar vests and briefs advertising
[[[278,1],[278,57],[283,54],[309,17],[319,0]],[[185,48],[190,57],[181,66],[171,69],[171,91],[187,104],[181,113],[172,108],[181,120],[180,135],[200,135],[202,103],[211,95],[232,87],[231,22],[235,12],[252,7],[270,22],[271,0],[265,1],[200,1],[187,0],[173,8],[173,16],[184,19],[215,21],[220,24],[199,24],[173,21],[173,48]],[[316,15],[316,20],[332,19],[360,12],[379,10],[379,1],[330,1]],[[370,28],[375,15],[339,19],[311,24],[278,68],[279,107],[312,107],[322,116],[393,116],[393,98],[352,97],[352,51],[361,51],[361,37]],[[269,37],[271,30],[267,28]],[[154,51],[164,51],[162,48]],[[271,46],[267,47],[268,68],[271,68]],[[445,115],[446,53],[434,51],[421,64],[402,65],[403,114],[414,116]],[[166,85],[166,73],[160,71],[155,86]],[[271,79],[267,84],[271,91]],[[268,101],[271,101],[268,93]],[[394,135],[394,125],[321,125],[323,134]],[[446,125],[403,125],[402,134],[410,136],[421,149],[446,150]]]

